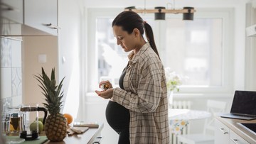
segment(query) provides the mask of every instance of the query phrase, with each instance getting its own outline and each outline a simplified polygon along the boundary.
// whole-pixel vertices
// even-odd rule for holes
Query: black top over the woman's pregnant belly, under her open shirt
[[[126,74],[127,67],[124,68],[120,78],[119,87],[124,89],[124,76]],[[116,131],[120,133],[124,129],[129,130],[129,109],[124,108],[124,106],[118,104],[114,101],[109,101],[106,108],[106,119],[107,123]]]

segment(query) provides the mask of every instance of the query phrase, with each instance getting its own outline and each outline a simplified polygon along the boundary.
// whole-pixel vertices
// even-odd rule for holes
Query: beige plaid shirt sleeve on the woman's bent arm
[[[137,94],[116,88],[112,100],[131,111],[150,113],[156,111],[162,95],[161,69],[159,64],[154,63],[142,70]]]

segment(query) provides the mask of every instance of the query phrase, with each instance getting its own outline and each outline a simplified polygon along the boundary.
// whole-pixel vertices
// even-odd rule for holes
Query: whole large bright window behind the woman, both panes
[[[112,21],[122,10],[107,9],[102,13],[89,9],[88,25],[88,91],[97,89],[103,79],[118,87],[119,76],[127,65],[127,52],[117,45]],[[231,88],[229,24],[231,9],[196,12],[194,21],[182,21],[173,15],[165,21],[154,21],[154,15],[141,15],[154,31],[156,46],[165,67],[189,77],[181,92],[223,92]],[[229,27],[228,27],[229,26]],[[225,40],[225,43],[224,41]]]

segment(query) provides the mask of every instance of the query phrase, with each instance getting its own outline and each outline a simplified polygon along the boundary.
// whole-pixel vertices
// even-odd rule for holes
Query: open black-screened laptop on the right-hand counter
[[[256,92],[235,91],[230,113],[221,113],[220,117],[242,120],[256,119]]]

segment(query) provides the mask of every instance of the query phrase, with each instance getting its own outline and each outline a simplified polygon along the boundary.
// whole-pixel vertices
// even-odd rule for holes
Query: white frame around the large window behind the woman
[[[85,78],[85,86],[87,94],[94,92],[95,86],[97,87],[97,50],[96,46],[97,42],[95,40],[95,30],[96,30],[96,18],[98,17],[110,17],[117,16],[117,14],[123,11],[123,9],[98,9],[98,8],[88,8],[86,9],[86,18],[87,19],[87,35],[85,35],[87,45],[86,48],[86,78]],[[148,14],[148,16],[154,16],[152,14]],[[233,85],[233,28],[234,28],[234,9],[233,8],[200,8],[196,9],[196,13],[194,18],[222,18],[223,19],[223,79],[221,87],[183,87],[181,86],[181,91],[178,92],[179,95],[193,95],[193,94],[229,94],[232,91]],[[166,18],[182,18],[182,14],[173,15],[166,14]],[[161,39],[160,35],[165,33],[164,26],[165,23],[161,23],[161,21],[155,21],[154,23],[154,37],[156,41],[156,45],[159,48],[159,53],[164,51],[165,40]],[[163,49],[161,49],[163,48]],[[95,84],[96,83],[96,84]]]

